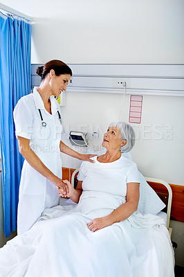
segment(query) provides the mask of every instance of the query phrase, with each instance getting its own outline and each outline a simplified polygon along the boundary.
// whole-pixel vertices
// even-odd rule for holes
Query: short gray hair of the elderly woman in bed
[[[109,125],[109,127],[117,127],[117,129],[120,130],[122,140],[126,139],[127,141],[127,143],[121,147],[120,151],[122,153],[129,152],[134,147],[136,139],[136,134],[131,125],[122,121],[114,121]]]

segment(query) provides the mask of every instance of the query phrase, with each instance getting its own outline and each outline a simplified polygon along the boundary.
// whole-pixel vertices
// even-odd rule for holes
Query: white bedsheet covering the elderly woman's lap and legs
[[[46,209],[30,231],[0,249],[0,276],[174,277],[173,249],[160,217],[136,212],[93,233],[86,224],[120,200],[107,193],[83,196],[77,205]]]

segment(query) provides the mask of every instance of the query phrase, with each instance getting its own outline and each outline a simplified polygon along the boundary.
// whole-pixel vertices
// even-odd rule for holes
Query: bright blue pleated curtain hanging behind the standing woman
[[[24,159],[19,154],[13,109],[30,93],[31,22],[0,12],[0,143],[3,176],[4,233],[17,229],[19,182]]]

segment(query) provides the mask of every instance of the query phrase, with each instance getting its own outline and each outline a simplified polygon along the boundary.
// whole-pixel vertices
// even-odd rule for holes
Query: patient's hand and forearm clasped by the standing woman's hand
[[[64,195],[64,193],[62,193],[61,190],[57,188],[59,195],[62,197],[66,197],[66,196],[70,197],[73,202],[78,203],[80,199],[80,195],[82,194],[82,181],[78,181],[77,188],[73,188],[73,186],[71,186],[71,183],[68,180],[62,180],[62,181],[68,187],[68,193],[67,195]]]

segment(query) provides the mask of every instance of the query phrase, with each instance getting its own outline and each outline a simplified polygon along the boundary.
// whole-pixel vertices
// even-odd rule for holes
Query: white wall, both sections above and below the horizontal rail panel
[[[183,0],[5,4],[34,17],[32,63],[53,58],[67,63],[184,63]],[[66,93],[64,123],[73,130],[79,124],[100,125],[104,132],[119,116],[122,102],[120,119],[128,121],[129,96],[123,101],[116,94]],[[134,125],[138,139],[132,155],[142,173],[174,184],[184,184],[183,102],[183,97],[144,96],[142,123]],[[172,128],[171,139],[167,127]],[[68,166],[67,159],[63,165]]]

